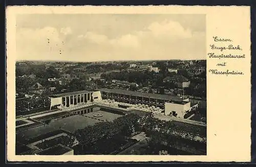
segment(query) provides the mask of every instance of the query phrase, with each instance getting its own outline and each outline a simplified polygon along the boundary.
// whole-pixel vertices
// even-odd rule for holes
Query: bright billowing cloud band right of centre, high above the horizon
[[[124,34],[120,37],[109,38],[106,35],[97,32],[87,32],[84,35],[78,35],[78,39],[86,39],[91,43],[104,44],[114,47],[138,48],[151,40],[154,45],[166,43],[166,40],[186,39],[193,37],[190,30],[184,29],[179,22],[164,20],[162,22],[153,22],[142,31],[135,31]]]

